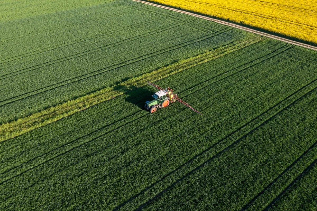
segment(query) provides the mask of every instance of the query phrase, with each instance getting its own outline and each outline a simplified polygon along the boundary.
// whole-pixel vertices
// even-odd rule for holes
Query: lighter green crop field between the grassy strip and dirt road
[[[1,123],[29,116],[233,41],[256,37],[132,1],[107,5],[84,11],[94,14],[97,10],[96,18],[102,11],[109,10],[110,14],[127,14],[91,23],[82,20],[81,12],[74,10],[69,16],[75,16],[73,19],[78,18],[78,21],[74,22],[82,24],[2,42]],[[137,6],[134,8],[134,5]],[[56,22],[65,19],[60,20],[55,14],[49,17]],[[96,26],[93,29],[92,24]],[[171,33],[175,39],[171,39]]]

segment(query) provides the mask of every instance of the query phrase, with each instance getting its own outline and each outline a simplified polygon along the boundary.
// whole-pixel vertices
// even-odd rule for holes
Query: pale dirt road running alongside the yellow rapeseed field
[[[272,39],[275,39],[275,40],[280,40],[280,41],[287,42],[287,43],[290,43],[290,44],[293,44],[293,45],[296,45],[296,46],[300,46],[300,47],[304,47],[304,48],[308,48],[308,49],[312,49],[312,50],[317,51],[317,47],[312,46],[312,45],[308,45],[308,44],[305,44],[305,43],[302,43],[302,42],[286,39],[286,38],[283,38],[283,37],[280,37],[280,36],[277,36],[277,35],[268,34],[268,33],[265,33],[265,32],[258,31],[256,29],[248,28],[248,27],[245,27],[245,26],[240,26],[238,24],[234,24],[234,23],[218,20],[216,18],[211,18],[211,17],[208,17],[208,16],[198,15],[198,14],[195,14],[195,13],[192,13],[192,12],[189,12],[189,11],[184,11],[184,10],[181,10],[181,9],[175,9],[175,8],[171,8],[171,7],[168,7],[168,6],[163,6],[163,5],[160,5],[160,4],[145,2],[145,1],[141,1],[141,0],[132,0],[132,1],[148,4],[148,5],[159,7],[159,8],[163,8],[163,9],[169,9],[169,10],[172,10],[172,11],[175,11],[175,12],[184,13],[184,14],[187,14],[187,15],[195,16],[195,17],[202,18],[202,19],[205,19],[205,20],[208,20],[208,21],[213,21],[213,22],[220,23],[220,24],[223,24],[223,25],[226,25],[226,26],[231,26],[231,27],[234,27],[234,28],[242,29],[244,31],[252,32],[254,34],[260,34],[262,36],[269,37],[269,38],[272,38]]]

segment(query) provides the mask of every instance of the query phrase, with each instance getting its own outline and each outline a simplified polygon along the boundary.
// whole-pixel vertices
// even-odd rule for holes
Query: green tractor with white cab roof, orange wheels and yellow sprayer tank
[[[155,112],[158,108],[164,108],[168,106],[171,102],[175,102],[176,99],[174,98],[173,94],[169,90],[160,90],[152,95],[154,100],[146,101],[144,108],[149,110],[150,113]]]

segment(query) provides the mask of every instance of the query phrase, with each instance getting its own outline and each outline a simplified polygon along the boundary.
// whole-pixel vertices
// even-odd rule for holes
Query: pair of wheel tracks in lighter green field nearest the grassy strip
[[[5,102],[5,101],[12,100],[12,99],[20,97],[20,96],[31,94],[31,95],[28,95],[28,96],[24,96],[23,98],[14,99],[13,101],[6,102],[6,103],[0,105],[0,107],[3,107],[4,105],[10,104],[12,102],[16,102],[16,101],[28,98],[30,96],[34,96],[34,95],[37,95],[37,94],[40,94],[40,93],[43,93],[43,92],[46,92],[46,91],[49,91],[49,90],[53,90],[53,89],[56,89],[56,88],[59,88],[59,87],[62,87],[62,86],[68,85],[68,84],[72,84],[72,83],[78,82],[78,81],[83,80],[83,79],[87,79],[87,78],[90,78],[90,77],[93,77],[93,76],[96,76],[96,75],[99,75],[99,74],[103,74],[103,73],[108,72],[108,71],[113,71],[113,70],[115,70],[117,68],[124,67],[126,65],[130,65],[130,64],[133,64],[133,63],[136,63],[136,62],[151,58],[153,56],[157,56],[157,55],[162,54],[162,53],[173,51],[173,50],[176,50],[176,49],[179,49],[179,48],[182,48],[182,47],[186,47],[186,46],[195,44],[195,43],[203,41],[203,40],[207,40],[207,39],[209,39],[209,38],[211,38],[213,36],[217,36],[217,35],[225,32],[225,31],[228,31],[228,30],[230,30],[230,29],[225,29],[225,30],[223,29],[223,30],[220,30],[218,32],[215,32],[214,34],[205,35],[203,37],[196,38],[196,39],[187,41],[187,42],[182,43],[182,44],[178,44],[178,45],[175,45],[175,46],[172,46],[172,47],[167,47],[167,48],[161,49],[159,51],[148,53],[148,54],[139,56],[139,57],[134,58],[134,59],[129,59],[127,61],[120,62],[120,63],[115,64],[115,65],[110,65],[108,67],[105,67],[105,68],[102,68],[102,69],[99,69],[99,70],[96,70],[96,71],[92,71],[90,73],[87,73],[87,74],[84,74],[84,75],[81,75],[81,76],[78,76],[78,77],[75,77],[75,78],[72,78],[72,79],[68,79],[68,80],[65,80],[65,81],[62,81],[62,82],[59,82],[59,83],[56,83],[56,84],[52,84],[52,85],[49,85],[49,86],[46,86],[46,87],[42,87],[42,88],[37,89],[37,90],[33,90],[33,91],[30,91],[30,92],[27,92],[27,93],[24,93],[24,94],[21,94],[21,95],[18,95],[18,96],[14,96],[14,97],[5,99],[5,100],[0,101],[0,102]],[[111,68],[111,69],[109,69],[109,68]]]

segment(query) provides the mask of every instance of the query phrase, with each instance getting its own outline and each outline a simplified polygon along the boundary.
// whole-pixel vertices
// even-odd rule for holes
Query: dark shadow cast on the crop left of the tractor
[[[141,87],[126,94],[126,101],[137,105],[139,108],[144,109],[146,101],[152,101],[154,91],[148,87]]]

